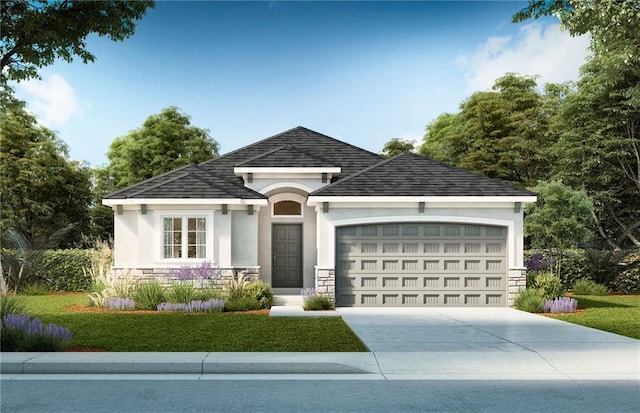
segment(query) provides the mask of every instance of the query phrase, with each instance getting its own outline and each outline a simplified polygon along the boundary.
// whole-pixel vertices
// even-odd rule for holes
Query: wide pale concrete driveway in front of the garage
[[[338,308],[386,375],[640,380],[640,341],[511,308]]]

